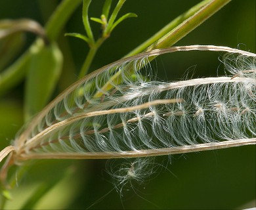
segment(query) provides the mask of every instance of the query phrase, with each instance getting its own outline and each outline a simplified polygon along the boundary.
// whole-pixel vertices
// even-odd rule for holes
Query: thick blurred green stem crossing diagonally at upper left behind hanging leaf
[[[58,5],[56,11],[47,22],[45,31],[50,41],[57,39],[60,30],[70,18],[72,12],[80,5],[82,0],[64,0]],[[19,83],[26,74],[26,64],[31,57],[31,49],[35,47],[36,42],[28,49],[16,62],[14,62],[9,68],[4,70],[3,74],[0,75],[0,96],[6,93],[9,89]],[[42,47],[42,46],[41,46]]]

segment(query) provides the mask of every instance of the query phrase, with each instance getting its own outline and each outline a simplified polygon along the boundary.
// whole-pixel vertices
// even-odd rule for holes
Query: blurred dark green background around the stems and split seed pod
[[[116,2],[116,1],[114,1]],[[165,24],[200,1],[129,0],[120,14],[135,12],[138,18],[125,20],[96,54],[91,71],[118,60]],[[32,18],[45,24],[59,1],[0,1],[0,19]],[[89,15],[100,16],[103,1],[94,0]],[[100,33],[93,23],[95,35]],[[66,24],[58,44],[64,54],[64,68],[55,95],[74,83],[88,51],[86,43],[65,32],[84,33],[81,7]],[[35,39],[26,33],[22,54]],[[255,0],[233,0],[176,45],[224,45],[255,53]],[[207,77],[224,74],[218,60],[223,53],[173,53],[158,58],[158,77]],[[18,55],[17,55],[18,56]],[[53,96],[54,97],[54,96]],[[0,98],[0,145],[9,145],[22,126],[24,82]],[[8,208],[22,206],[39,188],[56,183],[37,204],[39,209],[242,209],[255,207],[255,146],[243,146],[195,154],[159,157],[158,175],[134,184],[123,196],[113,190],[105,160],[36,161],[18,180]],[[171,160],[171,163],[170,163]],[[16,168],[12,168],[16,173]],[[58,180],[58,182],[57,182]],[[100,199],[100,200],[99,200]]]

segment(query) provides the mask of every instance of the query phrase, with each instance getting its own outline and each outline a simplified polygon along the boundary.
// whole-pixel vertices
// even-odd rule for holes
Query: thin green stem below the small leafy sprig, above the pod
[[[98,51],[98,48],[102,43],[106,40],[107,37],[101,37],[98,39],[95,43],[95,45],[92,45],[89,49],[89,53],[87,54],[87,57],[85,58],[85,62],[83,63],[83,66],[81,68],[81,71],[79,73],[79,79],[87,75],[88,70],[91,66],[91,63],[93,62],[93,58],[95,57],[96,52]]]

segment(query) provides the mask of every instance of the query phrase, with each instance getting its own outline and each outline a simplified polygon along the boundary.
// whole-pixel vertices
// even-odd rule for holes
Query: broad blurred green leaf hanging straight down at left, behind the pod
[[[41,40],[39,40],[41,41]],[[34,51],[26,79],[24,115],[28,120],[49,102],[62,70],[62,53],[53,43]]]

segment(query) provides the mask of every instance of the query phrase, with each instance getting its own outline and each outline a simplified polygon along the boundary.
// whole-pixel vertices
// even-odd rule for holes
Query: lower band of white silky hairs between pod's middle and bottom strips
[[[104,96],[112,102],[108,109],[159,99],[177,98],[177,102],[77,119],[41,135],[40,146],[28,144],[26,149],[28,153],[125,152],[255,137],[255,79],[235,77],[227,82],[221,78],[202,85],[192,85],[193,79],[183,81],[179,88],[157,81],[133,83],[117,96]],[[101,103],[100,108],[106,108]]]

